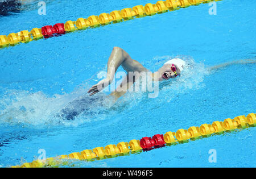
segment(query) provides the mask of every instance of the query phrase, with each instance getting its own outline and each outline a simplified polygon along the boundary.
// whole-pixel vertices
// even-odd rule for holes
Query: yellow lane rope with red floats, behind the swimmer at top
[[[145,6],[139,5],[133,8],[125,8],[121,11],[115,10],[111,13],[102,13],[99,16],[91,15],[87,19],[79,18],[76,21],[68,20],[66,23],[57,23],[54,26],[44,26],[42,28],[33,28],[31,31],[20,31],[9,35],[0,35],[0,48],[14,46],[16,44],[28,43],[32,40],[42,38],[51,38],[52,36],[63,35],[67,32],[76,30],[85,30],[88,27],[99,27],[110,23],[119,23],[131,20],[134,17],[142,18],[155,14],[166,13],[167,11],[175,11],[180,8],[189,6],[197,6],[201,3],[209,3],[221,0],[166,0],[158,1],[156,4],[147,3]]]

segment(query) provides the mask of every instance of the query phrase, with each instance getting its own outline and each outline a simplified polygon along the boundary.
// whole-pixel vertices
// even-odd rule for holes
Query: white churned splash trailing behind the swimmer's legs
[[[32,126],[57,125],[63,119],[56,118],[56,113],[63,109],[73,98],[85,91],[76,91],[71,94],[54,95],[48,97],[42,91],[9,90],[0,100],[0,123],[28,124]]]

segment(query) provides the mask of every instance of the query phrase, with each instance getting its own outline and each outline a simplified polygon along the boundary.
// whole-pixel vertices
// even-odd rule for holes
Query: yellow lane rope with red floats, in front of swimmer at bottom
[[[61,155],[46,160],[35,160],[32,163],[24,163],[21,166],[12,166],[13,168],[39,168],[63,165],[61,160],[76,159],[84,161],[102,160],[110,157],[128,155],[149,151],[154,148],[170,146],[174,144],[188,142],[189,140],[209,137],[213,134],[223,134],[225,131],[234,131],[238,128],[245,129],[256,126],[256,114],[251,113],[237,116],[234,119],[225,119],[224,122],[215,121],[212,124],[202,124],[200,127],[189,127],[188,130],[180,129],[176,132],[166,132],[164,135],[156,134],[152,138],[144,137],[141,140],[131,140],[129,143],[120,142],[117,145],[106,145],[106,147],[96,147],[86,149],[82,152],[73,152],[69,155]]]

